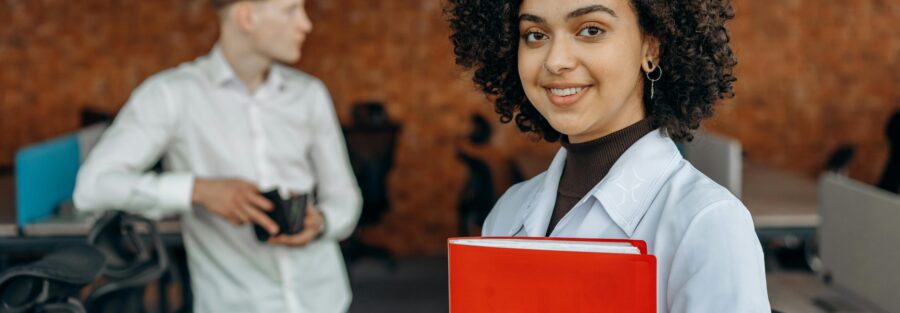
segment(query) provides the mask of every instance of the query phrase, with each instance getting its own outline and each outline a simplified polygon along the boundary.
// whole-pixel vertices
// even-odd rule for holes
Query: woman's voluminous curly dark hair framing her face
[[[560,133],[534,108],[518,73],[519,6],[522,0],[448,0],[456,63],[474,70],[473,80],[495,102],[500,121],[554,142]],[[644,86],[644,106],[654,127],[673,140],[690,141],[691,130],[713,115],[714,104],[734,96],[737,59],[725,22],[734,18],[730,0],[631,0],[641,32],[660,42],[664,76]]]

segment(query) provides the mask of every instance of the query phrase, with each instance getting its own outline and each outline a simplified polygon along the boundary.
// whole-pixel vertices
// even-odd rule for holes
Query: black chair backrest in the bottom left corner
[[[103,254],[96,248],[72,245],[10,268],[0,274],[0,312],[85,312],[78,293],[103,265]]]

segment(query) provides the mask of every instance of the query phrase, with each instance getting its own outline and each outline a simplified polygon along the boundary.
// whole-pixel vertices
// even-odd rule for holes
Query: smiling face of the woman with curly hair
[[[525,95],[573,143],[646,116],[643,79],[654,40],[628,0],[524,0],[518,71]],[[652,58],[654,64],[656,59]]]

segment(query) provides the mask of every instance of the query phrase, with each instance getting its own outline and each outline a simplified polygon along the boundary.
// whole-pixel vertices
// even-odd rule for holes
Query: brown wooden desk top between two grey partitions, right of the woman
[[[816,182],[752,162],[744,163],[742,201],[756,228],[815,228]]]

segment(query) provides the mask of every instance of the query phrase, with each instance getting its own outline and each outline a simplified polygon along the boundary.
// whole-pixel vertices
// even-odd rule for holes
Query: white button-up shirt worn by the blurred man
[[[163,157],[162,174],[145,173]],[[194,178],[236,178],[261,190],[317,192],[324,236],[309,245],[257,242],[192,207]],[[147,79],[82,165],[81,210],[180,214],[195,312],[346,312],[350,288],[337,241],[361,196],[321,81],[275,64],[250,94],[221,51]]]

